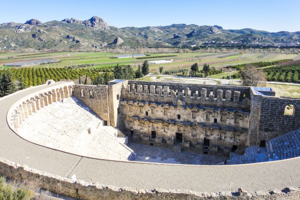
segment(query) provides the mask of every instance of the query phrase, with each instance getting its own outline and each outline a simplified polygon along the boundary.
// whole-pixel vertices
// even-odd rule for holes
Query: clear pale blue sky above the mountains
[[[300,31],[300,0],[72,0],[1,2],[0,23],[103,18],[109,25],[159,26],[173,23],[253,28],[270,32]]]

